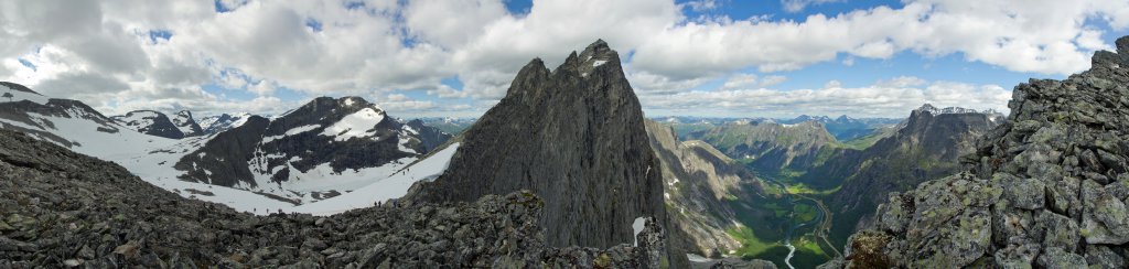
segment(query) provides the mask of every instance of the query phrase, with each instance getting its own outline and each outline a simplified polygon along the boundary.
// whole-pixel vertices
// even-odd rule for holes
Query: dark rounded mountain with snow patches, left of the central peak
[[[309,203],[387,177],[449,138],[421,133],[443,132],[396,121],[359,97],[323,97],[277,119],[250,116],[175,167],[189,181]]]

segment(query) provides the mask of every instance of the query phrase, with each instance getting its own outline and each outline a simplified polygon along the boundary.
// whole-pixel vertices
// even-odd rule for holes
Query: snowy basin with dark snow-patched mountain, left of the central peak
[[[2,93],[12,98],[0,98],[0,128],[115,162],[183,197],[254,214],[344,211],[399,198],[412,182],[441,173],[457,148],[450,146],[417,162],[434,149],[431,145],[440,145],[449,136],[437,137],[445,133],[396,121],[356,97],[322,99],[271,120],[228,116],[222,124],[239,127],[212,136],[169,139],[122,125],[151,128],[161,120],[172,125],[173,121],[160,119],[164,114],[159,112],[139,111],[115,121],[81,102],[50,98],[20,85],[0,83]],[[181,123],[194,124],[191,114],[178,114],[184,120]],[[436,139],[443,141],[431,141]],[[242,145],[239,141],[251,141],[248,149],[231,146]],[[186,166],[178,166],[181,163]],[[230,176],[216,164],[242,165],[250,176]],[[370,194],[359,197],[361,193]],[[342,203],[310,207],[333,197]]]

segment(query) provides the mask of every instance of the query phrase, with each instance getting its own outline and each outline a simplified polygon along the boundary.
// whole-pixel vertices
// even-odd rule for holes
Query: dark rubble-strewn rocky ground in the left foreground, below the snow
[[[207,190],[200,190],[207,192]],[[260,217],[181,198],[114,163],[0,130],[0,268],[657,268],[637,246],[546,248],[528,192],[382,205],[332,217]]]

